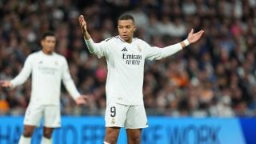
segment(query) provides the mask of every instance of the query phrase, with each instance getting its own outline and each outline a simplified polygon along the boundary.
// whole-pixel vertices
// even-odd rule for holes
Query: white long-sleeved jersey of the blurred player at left
[[[21,85],[31,73],[30,104],[59,105],[62,81],[73,98],[80,96],[70,76],[66,58],[60,54],[47,55],[42,50],[30,54],[20,74],[10,82],[13,87]]]

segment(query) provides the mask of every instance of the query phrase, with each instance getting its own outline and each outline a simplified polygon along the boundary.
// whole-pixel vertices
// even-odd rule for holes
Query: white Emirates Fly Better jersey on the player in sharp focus
[[[160,59],[182,50],[178,43],[159,48],[150,46],[138,38],[131,43],[119,36],[108,38],[100,43],[86,40],[91,53],[98,58],[106,57],[108,74],[106,79],[106,102],[117,102],[124,105],[142,105],[142,85],[145,59]]]

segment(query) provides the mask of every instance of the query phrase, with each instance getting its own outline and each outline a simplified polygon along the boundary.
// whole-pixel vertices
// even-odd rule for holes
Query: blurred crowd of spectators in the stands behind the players
[[[106,60],[86,49],[78,15],[94,42],[117,35],[120,14],[134,15],[137,31],[154,46],[169,46],[194,31],[200,42],[169,58],[146,61],[144,102],[149,115],[254,116],[256,114],[255,0],[2,0],[0,79],[14,78],[28,54],[41,49],[43,32],[55,32],[85,106],[75,106],[62,88],[62,114],[98,115],[106,107]],[[14,90],[0,87],[0,114],[23,114],[30,80]]]

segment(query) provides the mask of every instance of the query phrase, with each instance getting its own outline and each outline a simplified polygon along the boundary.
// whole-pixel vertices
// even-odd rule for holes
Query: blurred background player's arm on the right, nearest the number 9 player
[[[74,85],[74,81],[71,78],[70,70],[66,60],[63,66],[62,82],[64,83],[66,90],[70,93],[71,97],[74,99],[74,101],[78,105],[86,103],[86,99],[88,98],[88,95],[79,94],[77,88]]]

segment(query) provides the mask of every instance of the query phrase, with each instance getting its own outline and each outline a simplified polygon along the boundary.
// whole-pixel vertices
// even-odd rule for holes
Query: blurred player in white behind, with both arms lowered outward
[[[1,85],[14,88],[26,82],[32,75],[32,90],[29,106],[24,118],[24,131],[19,144],[29,144],[34,128],[44,119],[42,143],[51,142],[55,127],[61,126],[60,92],[61,82],[66,86],[74,101],[80,105],[86,103],[87,95],[78,93],[70,76],[66,58],[54,52],[56,38],[54,33],[42,34],[42,50],[30,54],[21,72],[11,81],[2,81]]]

